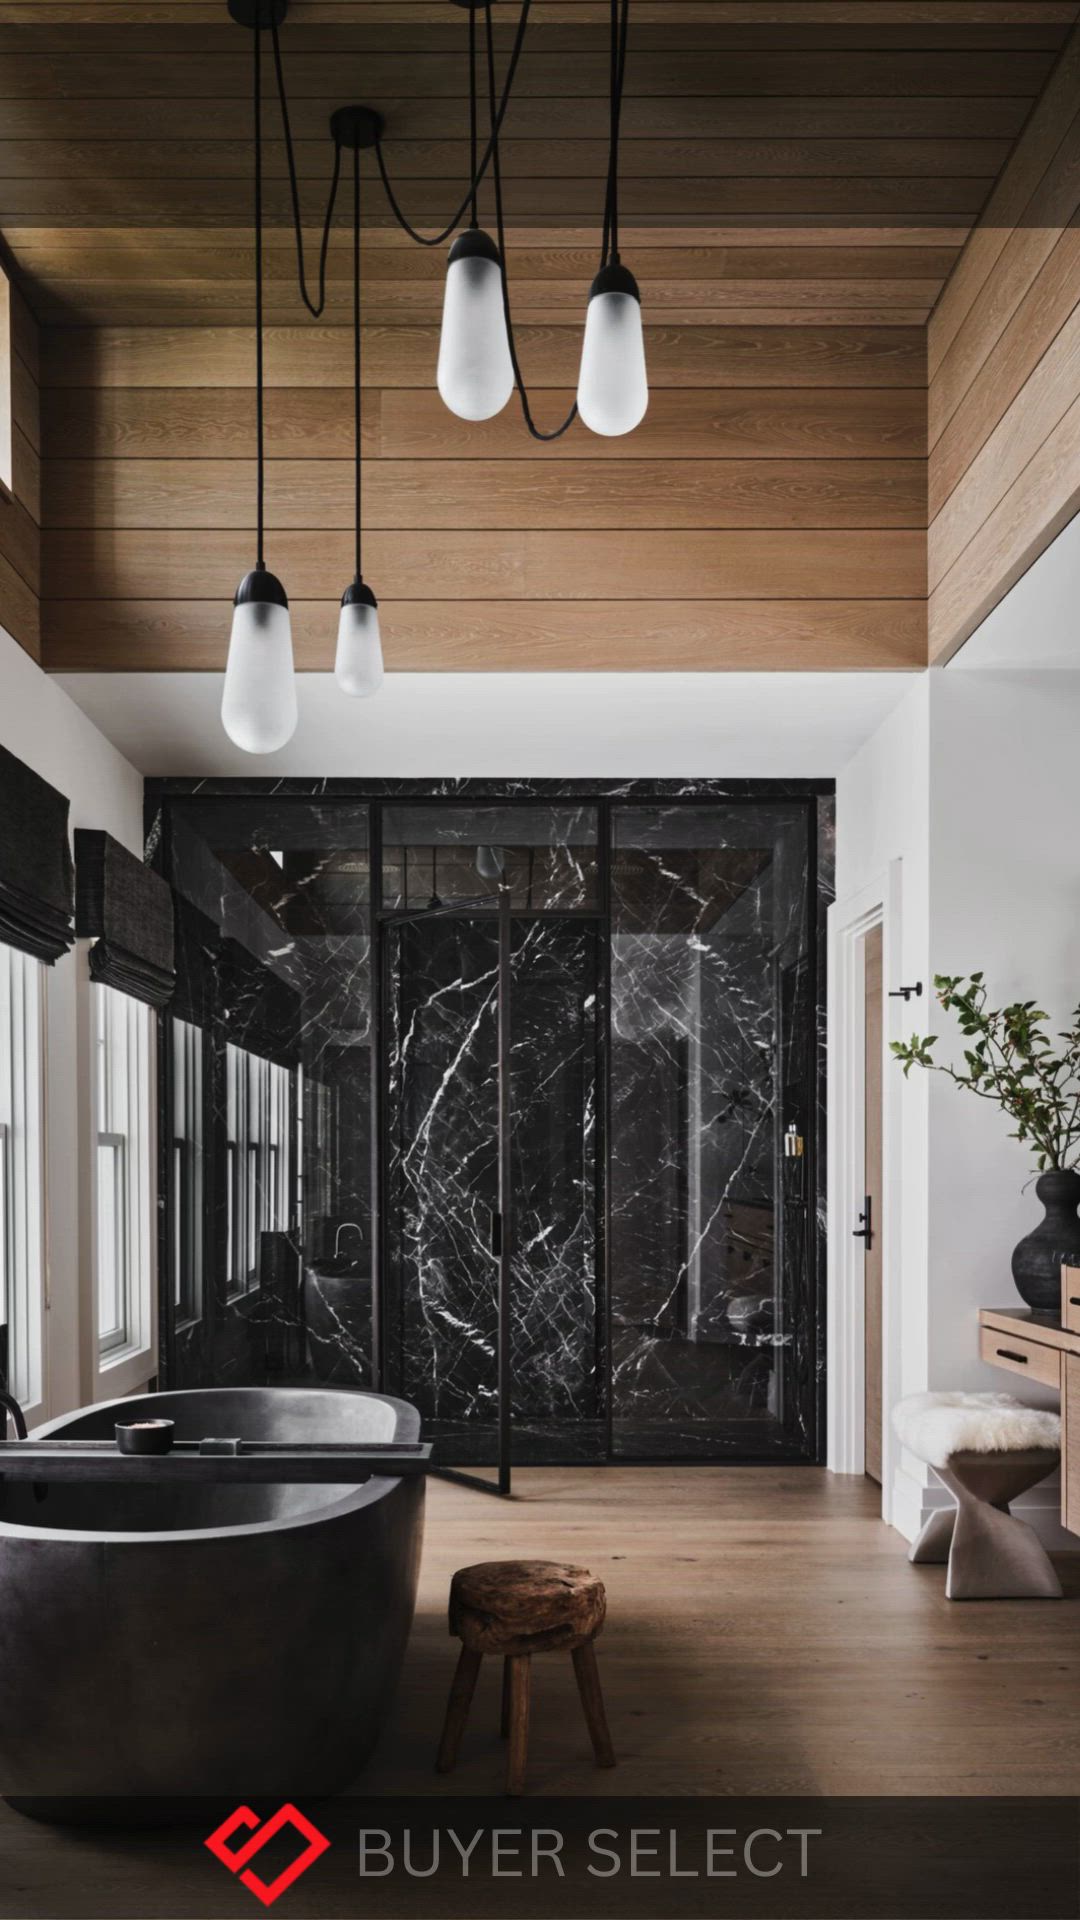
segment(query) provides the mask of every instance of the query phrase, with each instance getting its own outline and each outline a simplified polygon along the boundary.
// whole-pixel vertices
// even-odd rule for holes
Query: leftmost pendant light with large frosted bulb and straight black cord
[[[269,0],[273,4],[273,0]],[[234,13],[234,17],[240,17]],[[254,44],[254,142],[256,142],[256,564],[244,574],[233,603],[233,632],[225,664],[221,724],[244,753],[277,753],[296,732],[296,674],[288,595],[267,570],[263,557],[263,140],[261,140],[261,29],[269,25],[263,0],[244,25]]]

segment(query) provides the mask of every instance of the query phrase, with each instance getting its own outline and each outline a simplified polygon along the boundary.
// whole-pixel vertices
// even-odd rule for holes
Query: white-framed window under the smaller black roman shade
[[[94,1002],[98,1359],[150,1342],[154,1284],[154,1012],[113,987]]]

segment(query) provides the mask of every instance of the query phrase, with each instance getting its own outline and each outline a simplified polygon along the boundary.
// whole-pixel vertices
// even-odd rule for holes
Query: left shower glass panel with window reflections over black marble
[[[163,864],[181,931],[175,1012],[204,1046],[202,1309],[177,1308],[190,1260],[165,1140],[165,1354],[173,1386],[373,1380],[371,879],[365,804],[233,797],[175,803]],[[227,1048],[288,1073],[288,1158],[277,1183],[256,1142],[229,1140]],[[177,1060],[165,1035],[165,1119]],[[254,1273],[229,1277],[234,1167],[261,1221]],[[281,1188],[284,1187],[284,1194]],[[184,1223],[186,1225],[186,1223]],[[190,1231],[190,1229],[188,1229]],[[196,1229],[198,1231],[198,1229]]]

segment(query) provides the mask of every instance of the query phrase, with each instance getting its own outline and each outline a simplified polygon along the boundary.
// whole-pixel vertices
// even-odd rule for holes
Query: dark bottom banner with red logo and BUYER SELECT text
[[[0,1811],[4,1920],[1072,1920],[1072,1799],[336,1799]],[[44,1818],[42,1818],[44,1816]],[[79,1824],[79,1822],[92,1824]]]

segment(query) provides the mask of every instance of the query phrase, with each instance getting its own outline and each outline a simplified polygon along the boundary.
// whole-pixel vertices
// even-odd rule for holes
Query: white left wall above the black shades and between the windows
[[[142,776],[73,701],[0,628],[0,743],[71,801],[71,828],[104,828],[142,852]],[[83,1400],[79,1380],[81,1123],[88,1102],[79,1081],[79,968],[69,952],[46,968],[48,1129],[48,1413]],[[83,996],[85,998],[85,996]]]

